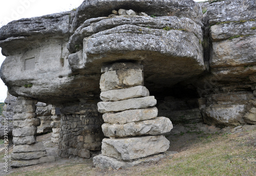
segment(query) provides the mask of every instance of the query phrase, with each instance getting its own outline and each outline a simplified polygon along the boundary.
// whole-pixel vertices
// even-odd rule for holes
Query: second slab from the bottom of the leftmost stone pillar
[[[46,156],[46,151],[31,151],[24,153],[12,153],[12,160],[32,160]]]

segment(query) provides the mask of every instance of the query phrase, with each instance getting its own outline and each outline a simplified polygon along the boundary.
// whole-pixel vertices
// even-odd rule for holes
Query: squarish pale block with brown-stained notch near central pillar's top
[[[101,92],[143,85],[142,70],[126,69],[105,72],[100,77]]]

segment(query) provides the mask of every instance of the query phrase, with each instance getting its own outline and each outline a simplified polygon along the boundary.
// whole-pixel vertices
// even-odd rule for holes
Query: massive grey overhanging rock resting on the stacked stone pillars
[[[102,17],[121,7],[153,17]],[[170,86],[205,70],[200,14],[190,0],[100,0],[84,1],[76,12],[13,21],[0,30],[7,56],[0,76],[12,95],[53,104],[97,97],[101,66],[116,60],[142,61],[148,89]]]

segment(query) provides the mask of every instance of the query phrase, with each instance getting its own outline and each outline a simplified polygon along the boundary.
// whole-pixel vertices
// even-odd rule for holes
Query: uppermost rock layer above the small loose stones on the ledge
[[[130,6],[131,9],[141,9],[147,14],[155,14],[157,16],[171,15],[178,17],[187,17],[195,19],[198,15],[202,14],[202,10],[194,1],[183,0],[96,0],[96,1],[84,1],[79,8],[77,8],[75,19],[73,20],[73,28],[78,28],[83,21],[92,17],[105,16],[113,9],[119,9],[120,7]],[[177,10],[180,9],[180,10]],[[182,10],[181,10],[182,9]]]

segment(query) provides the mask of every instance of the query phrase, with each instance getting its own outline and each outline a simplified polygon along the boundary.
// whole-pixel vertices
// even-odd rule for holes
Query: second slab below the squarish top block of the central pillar
[[[154,96],[142,97],[142,98],[132,98],[128,100],[121,100],[115,102],[98,102],[98,111],[100,113],[108,112],[119,112],[128,109],[140,109],[150,106],[155,106],[157,100]]]

